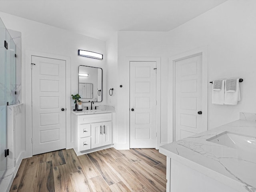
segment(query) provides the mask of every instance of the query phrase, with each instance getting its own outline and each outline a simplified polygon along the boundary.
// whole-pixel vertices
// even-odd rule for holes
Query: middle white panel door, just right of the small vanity
[[[130,148],[156,148],[156,62],[130,62]]]

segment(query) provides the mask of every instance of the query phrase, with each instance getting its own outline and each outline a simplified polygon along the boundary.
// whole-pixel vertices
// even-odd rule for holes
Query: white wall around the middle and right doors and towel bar
[[[168,142],[168,58],[208,46],[208,81],[243,78],[236,106],[211,104],[208,85],[208,129],[237,120],[239,112],[256,112],[256,1],[227,1],[170,32],[118,32],[118,84],[129,86],[126,57],[161,57],[161,144]],[[123,99],[125,98],[125,100]],[[118,112],[127,110],[129,89],[118,93]],[[121,102],[124,100],[124,102]],[[126,139],[128,116],[118,113],[118,138]]]

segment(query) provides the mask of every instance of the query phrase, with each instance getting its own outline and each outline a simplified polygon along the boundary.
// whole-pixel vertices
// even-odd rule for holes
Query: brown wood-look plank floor
[[[23,159],[11,192],[164,192],[166,156],[155,149],[73,149]]]

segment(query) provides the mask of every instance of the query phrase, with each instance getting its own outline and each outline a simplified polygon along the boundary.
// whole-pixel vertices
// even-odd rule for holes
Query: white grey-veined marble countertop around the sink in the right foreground
[[[159,152],[239,192],[256,192],[256,150],[246,152],[206,141],[224,131],[256,137],[256,114],[160,146]]]

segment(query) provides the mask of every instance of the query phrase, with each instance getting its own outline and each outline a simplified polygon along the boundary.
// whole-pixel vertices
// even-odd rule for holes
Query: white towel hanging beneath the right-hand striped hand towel
[[[234,91],[234,88],[232,91]],[[240,96],[240,88],[239,88],[239,79],[236,79],[236,90],[234,92],[228,92],[227,87],[225,86],[224,104],[236,105],[237,102],[240,100],[241,100],[241,96]]]

